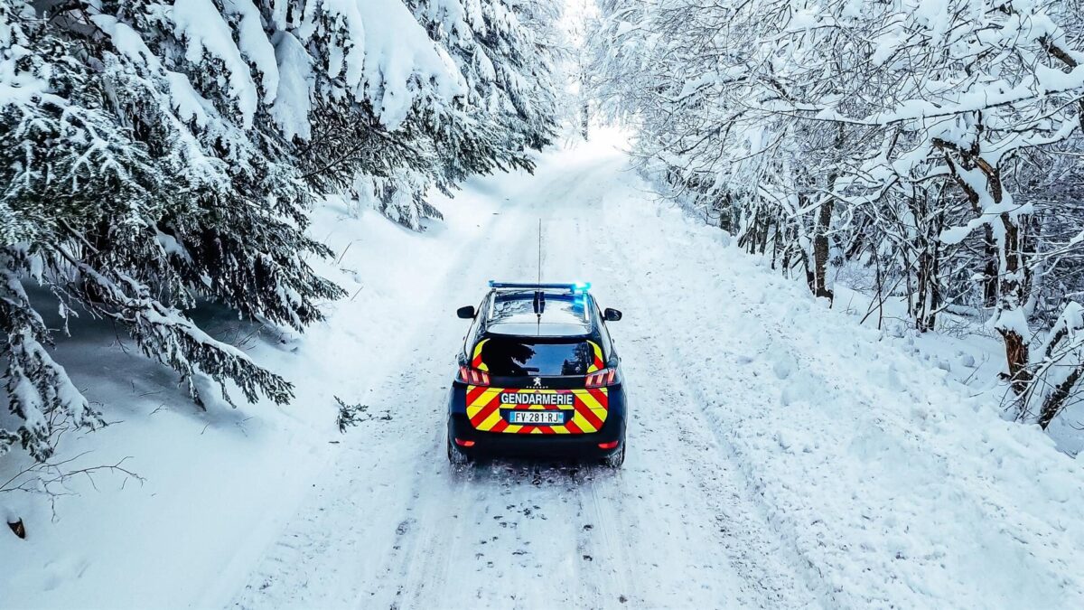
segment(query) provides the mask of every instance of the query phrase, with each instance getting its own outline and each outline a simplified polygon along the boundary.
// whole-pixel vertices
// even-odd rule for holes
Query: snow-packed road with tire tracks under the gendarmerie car
[[[403,328],[396,374],[363,402],[392,419],[347,436],[236,603],[244,608],[568,608],[817,605],[683,374],[667,303],[604,204],[624,160],[570,155],[502,180],[503,202]],[[615,325],[632,415],[629,457],[594,465],[444,459],[446,393],[486,280],[588,279]],[[641,234],[642,232],[635,233]],[[396,323],[402,323],[397,321]],[[349,363],[344,363],[349,367]],[[344,371],[346,373],[347,371]],[[364,374],[357,371],[357,374]]]

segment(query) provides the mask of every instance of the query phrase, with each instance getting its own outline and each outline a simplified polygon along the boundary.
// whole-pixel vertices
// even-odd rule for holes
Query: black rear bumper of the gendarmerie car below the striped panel
[[[472,457],[560,457],[603,458],[614,455],[624,445],[624,418],[610,414],[602,430],[590,434],[509,434],[481,432],[470,425],[466,414],[451,414],[448,418],[448,437],[474,445],[462,444],[459,449]],[[599,444],[618,442],[616,447],[602,448]]]

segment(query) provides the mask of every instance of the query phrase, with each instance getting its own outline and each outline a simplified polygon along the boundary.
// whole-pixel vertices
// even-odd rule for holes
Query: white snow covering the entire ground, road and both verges
[[[108,325],[75,327],[57,359],[114,423],[65,454],[130,456],[145,481],[74,481],[55,521],[0,496],[28,533],[0,535],[3,605],[1084,605],[1084,460],[1003,418],[996,341],[860,325],[842,285],[827,308],[660,207],[619,136],[470,180],[421,234],[328,201],[312,234],[338,256],[319,270],[350,296],[326,322],[246,339],[196,320],[296,383],[293,406],[199,411]],[[454,470],[453,312],[486,280],[535,277],[540,218],[543,280],[590,280],[624,313],[628,461]],[[391,419],[340,435],[335,396]]]

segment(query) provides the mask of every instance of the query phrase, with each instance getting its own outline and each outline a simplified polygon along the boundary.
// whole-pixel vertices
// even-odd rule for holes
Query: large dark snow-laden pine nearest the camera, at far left
[[[65,316],[82,309],[126,327],[197,402],[195,374],[223,395],[232,381],[249,401],[286,402],[291,384],[199,330],[183,314],[196,298],[300,328],[321,317],[314,300],[340,292],[304,263],[327,250],[304,234],[296,171],[251,129],[245,64],[231,64],[238,56],[222,38],[183,34],[193,20],[228,34],[208,7],[2,4],[13,92],[2,100],[0,181],[3,226],[17,230],[2,253],[4,379],[18,423],[4,437],[36,459],[51,454],[61,420],[100,418],[48,357],[27,280],[48,287]]]

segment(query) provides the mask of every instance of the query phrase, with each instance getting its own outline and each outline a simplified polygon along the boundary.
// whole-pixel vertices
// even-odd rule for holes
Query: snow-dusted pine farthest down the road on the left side
[[[354,194],[416,229],[422,218],[439,216],[427,201],[430,188],[450,194],[472,175],[533,168],[530,150],[549,143],[555,130],[556,51],[545,40],[556,37],[559,11],[506,0],[406,3],[454,62],[464,96],[441,115],[409,119],[401,134],[388,135],[396,144],[412,145],[354,170],[360,174]],[[533,20],[533,27],[521,23],[524,17]]]

